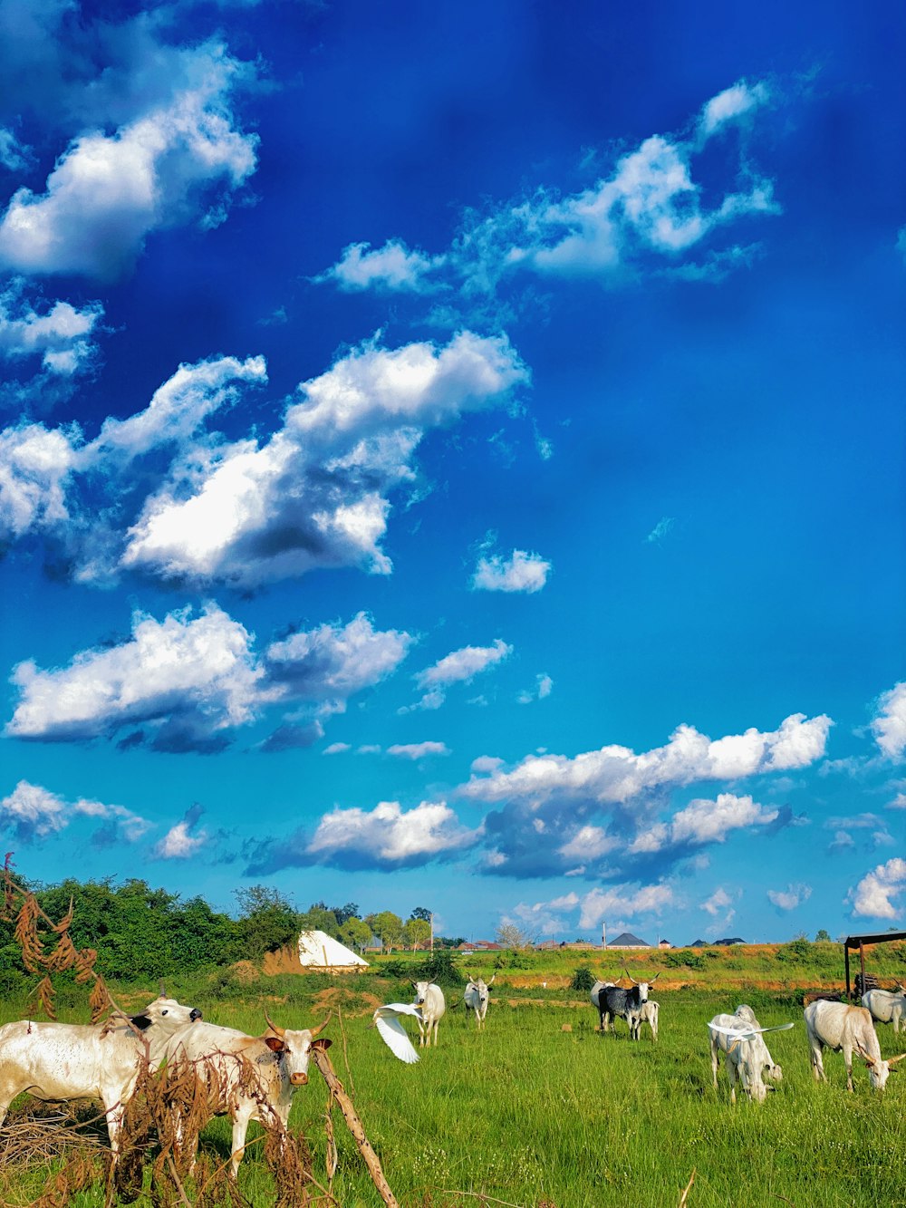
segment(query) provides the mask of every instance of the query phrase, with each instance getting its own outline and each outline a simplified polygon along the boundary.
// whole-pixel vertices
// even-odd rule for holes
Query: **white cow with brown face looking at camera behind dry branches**
[[[178,1034],[167,1045],[165,1059],[178,1073],[184,1064],[194,1068],[207,1087],[208,1110],[213,1116],[232,1116],[233,1145],[230,1171],[236,1178],[245,1149],[249,1123],[257,1120],[267,1127],[288,1126],[292,1092],[308,1082],[308,1057],[312,1043],[327,1024],[290,1030],[278,1028],[265,1016],[268,1030],[249,1036],[236,1028],[197,1023]],[[326,1038],[318,1041],[329,1049]],[[191,1142],[198,1145],[198,1134]],[[194,1154],[192,1166],[194,1166]]]

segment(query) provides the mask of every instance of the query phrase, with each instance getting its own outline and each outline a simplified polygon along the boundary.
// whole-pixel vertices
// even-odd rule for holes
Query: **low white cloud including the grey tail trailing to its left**
[[[399,869],[449,858],[470,848],[480,831],[470,830],[446,802],[422,802],[405,809],[382,801],[373,809],[335,809],[313,835],[302,832],[265,841],[250,854],[248,873],[331,864],[344,869]]]

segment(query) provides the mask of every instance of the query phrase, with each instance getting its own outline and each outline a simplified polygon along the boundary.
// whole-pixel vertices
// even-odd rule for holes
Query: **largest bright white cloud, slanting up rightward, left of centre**
[[[358,348],[303,383],[304,401],[263,445],[175,467],[130,529],[122,564],[248,586],[318,567],[387,574],[388,494],[413,477],[423,429],[494,406],[525,379],[504,337]]]

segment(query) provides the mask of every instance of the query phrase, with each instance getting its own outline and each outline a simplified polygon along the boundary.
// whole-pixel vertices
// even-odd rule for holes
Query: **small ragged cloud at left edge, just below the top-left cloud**
[[[0,355],[8,360],[40,356],[45,370],[60,377],[88,367],[95,352],[92,333],[104,313],[100,303],[80,310],[57,301],[41,309],[23,298],[19,280],[0,294]]]

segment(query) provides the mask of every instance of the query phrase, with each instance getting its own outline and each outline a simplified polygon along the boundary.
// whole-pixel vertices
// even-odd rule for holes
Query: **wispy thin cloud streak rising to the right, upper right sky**
[[[397,289],[459,289],[466,296],[494,292],[517,272],[609,284],[650,271],[716,279],[749,259],[736,243],[715,246],[716,233],[779,211],[772,181],[728,137],[750,127],[769,100],[763,82],[738,81],[705,103],[689,135],[645,139],[579,193],[539,187],[525,199],[470,213],[440,256],[412,251],[399,239],[376,251],[354,244],[320,279],[365,289],[387,286],[393,274]],[[705,149],[712,172],[720,163],[726,181],[713,204],[695,174]]]

